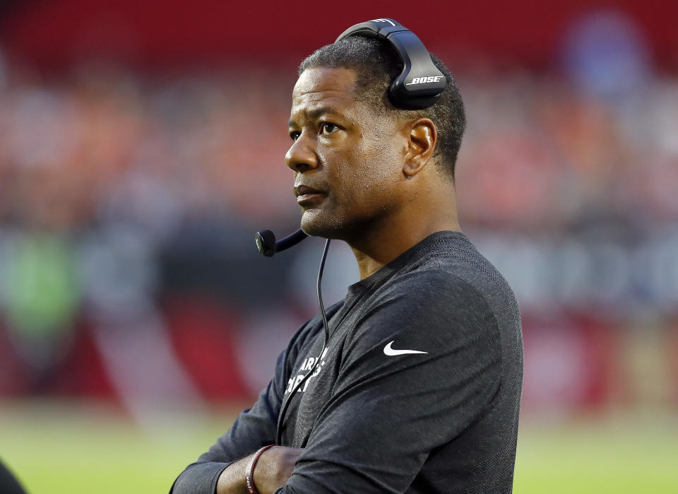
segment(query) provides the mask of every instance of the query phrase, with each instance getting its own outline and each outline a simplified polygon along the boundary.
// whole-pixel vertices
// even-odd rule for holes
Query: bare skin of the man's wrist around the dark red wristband
[[[254,485],[259,494],[273,494],[281,487],[285,487],[303,451],[304,449],[296,447],[273,446],[261,453],[254,467]],[[218,494],[247,494],[245,470],[251,457],[252,455],[249,455],[236,461],[222,471],[217,484]]]

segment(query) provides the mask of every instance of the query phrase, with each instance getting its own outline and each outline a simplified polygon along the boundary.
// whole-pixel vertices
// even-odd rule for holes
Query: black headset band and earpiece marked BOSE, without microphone
[[[349,36],[386,40],[400,54],[403,71],[388,88],[388,96],[393,105],[408,109],[429,107],[447,86],[446,77],[434,65],[424,43],[398,21],[383,18],[352,25],[335,42]]]

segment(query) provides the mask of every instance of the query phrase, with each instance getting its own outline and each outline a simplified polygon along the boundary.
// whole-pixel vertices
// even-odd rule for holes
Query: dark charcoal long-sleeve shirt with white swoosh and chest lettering
[[[280,354],[273,380],[174,494],[213,494],[229,464],[303,447],[277,494],[509,493],[523,379],[516,299],[463,233],[439,232],[349,287]],[[405,352],[408,351],[408,352]]]

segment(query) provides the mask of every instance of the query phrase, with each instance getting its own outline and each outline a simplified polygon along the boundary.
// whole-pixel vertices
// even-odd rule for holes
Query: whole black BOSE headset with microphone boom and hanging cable
[[[367,36],[376,37],[379,40],[386,40],[400,55],[400,59],[403,61],[403,71],[388,88],[388,98],[394,106],[405,109],[426,108],[433,105],[445,90],[447,78],[433,63],[429,51],[424,47],[424,44],[415,33],[412,33],[408,28],[400,25],[396,20],[388,18],[374,19],[352,25],[341,33],[335,42],[345,40],[345,38],[349,36]],[[261,254],[266,257],[273,257],[276,252],[282,252],[285,249],[297,245],[307,236],[308,235],[304,233],[303,230],[299,229],[295,233],[292,233],[292,235],[287,235],[287,237],[282,240],[276,241],[272,231],[261,230],[256,233],[254,240],[256,242],[256,248]],[[329,341],[327,315],[325,314],[325,306],[323,305],[323,295],[321,291],[323,268],[325,267],[329,246],[330,239],[327,239],[325,242],[325,249],[323,250],[323,256],[320,261],[318,280],[316,283],[318,303],[320,305],[323,329],[325,331],[325,340],[320,355],[322,355],[327,348]],[[277,445],[280,445],[282,440],[285,411],[287,411],[287,407],[290,405],[292,397],[295,396],[297,390],[301,389],[302,384],[311,377],[320,360],[320,358],[316,359],[314,367],[307,375],[304,375],[300,382],[297,383],[287,396],[287,399],[283,399],[283,405],[280,407],[280,414],[278,415],[278,428],[275,434],[275,443]]]

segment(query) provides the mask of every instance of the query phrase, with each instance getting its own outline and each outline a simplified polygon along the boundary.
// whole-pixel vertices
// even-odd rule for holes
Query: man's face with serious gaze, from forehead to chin
[[[307,69],[292,93],[285,163],[309,235],[350,240],[399,207],[407,139],[357,100],[355,81],[351,69]]]

